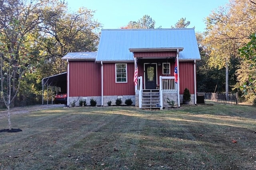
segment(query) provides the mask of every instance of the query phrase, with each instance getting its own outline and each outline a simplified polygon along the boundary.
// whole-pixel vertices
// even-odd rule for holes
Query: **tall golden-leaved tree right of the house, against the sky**
[[[222,69],[228,67],[229,77],[236,79],[232,69],[241,68],[242,63],[238,49],[248,43],[248,36],[256,29],[255,4],[247,0],[230,0],[206,18],[204,46],[209,56],[210,67]],[[234,81],[240,81],[234,80]],[[239,83],[238,83],[239,84]],[[230,88],[237,90],[238,84]]]

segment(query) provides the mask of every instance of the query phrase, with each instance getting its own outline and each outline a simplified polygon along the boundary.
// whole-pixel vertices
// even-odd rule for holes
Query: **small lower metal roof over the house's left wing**
[[[95,60],[97,52],[71,52],[62,57],[62,60]]]

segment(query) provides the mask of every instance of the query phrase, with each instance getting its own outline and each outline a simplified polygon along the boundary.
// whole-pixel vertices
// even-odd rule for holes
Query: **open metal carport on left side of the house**
[[[53,87],[60,88],[60,91],[67,92],[67,72],[43,78],[42,80],[42,104],[44,105],[44,87],[47,89],[47,105],[49,100],[49,86],[51,86],[51,98],[53,104]]]

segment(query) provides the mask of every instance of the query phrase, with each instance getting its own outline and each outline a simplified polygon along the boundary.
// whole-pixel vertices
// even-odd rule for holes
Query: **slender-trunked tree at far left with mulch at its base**
[[[0,74],[1,100],[8,109],[20,88],[21,78],[30,64],[30,51],[25,48],[28,33],[41,23],[40,6],[47,1],[2,0],[0,2]]]

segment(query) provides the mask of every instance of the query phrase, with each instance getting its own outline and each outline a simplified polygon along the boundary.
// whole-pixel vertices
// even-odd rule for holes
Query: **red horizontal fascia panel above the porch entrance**
[[[134,57],[176,57],[175,51],[163,52],[134,52]]]

